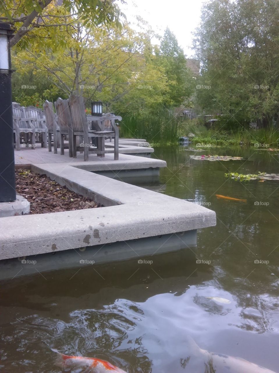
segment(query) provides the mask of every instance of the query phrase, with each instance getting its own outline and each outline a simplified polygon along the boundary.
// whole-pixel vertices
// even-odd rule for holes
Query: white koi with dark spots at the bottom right
[[[207,350],[202,350],[190,336],[187,337],[188,353],[190,355],[187,363],[187,372],[197,373],[275,373],[273,370],[266,369],[257,364],[250,363],[239,357],[216,354]],[[195,363],[202,362],[197,366]],[[203,367],[203,368],[202,368]],[[202,368],[202,370],[200,370]]]

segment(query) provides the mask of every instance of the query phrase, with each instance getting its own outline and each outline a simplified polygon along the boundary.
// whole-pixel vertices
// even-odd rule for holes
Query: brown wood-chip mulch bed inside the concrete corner
[[[92,209],[100,207],[89,198],[70,191],[46,175],[16,170],[16,192],[30,202],[30,214]]]

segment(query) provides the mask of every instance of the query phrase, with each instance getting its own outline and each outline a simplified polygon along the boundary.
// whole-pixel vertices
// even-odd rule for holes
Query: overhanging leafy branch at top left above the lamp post
[[[7,0],[0,3],[1,21],[9,22],[15,31],[11,46],[21,41],[21,47],[26,47],[40,36],[39,29],[44,29],[53,44],[58,41],[63,44],[63,38],[55,38],[63,28],[71,34],[75,27],[73,19],[78,20],[81,27],[88,24],[110,25],[114,23],[121,28],[120,16],[123,13],[115,0],[64,0],[61,5],[52,0]],[[27,36],[28,38],[23,36]],[[52,35],[54,37],[52,37]],[[41,38],[44,47],[47,40]]]

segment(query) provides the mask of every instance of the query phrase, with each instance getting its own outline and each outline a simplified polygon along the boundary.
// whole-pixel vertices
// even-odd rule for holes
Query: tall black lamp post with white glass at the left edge
[[[0,23],[0,202],[16,200],[9,23]]]

